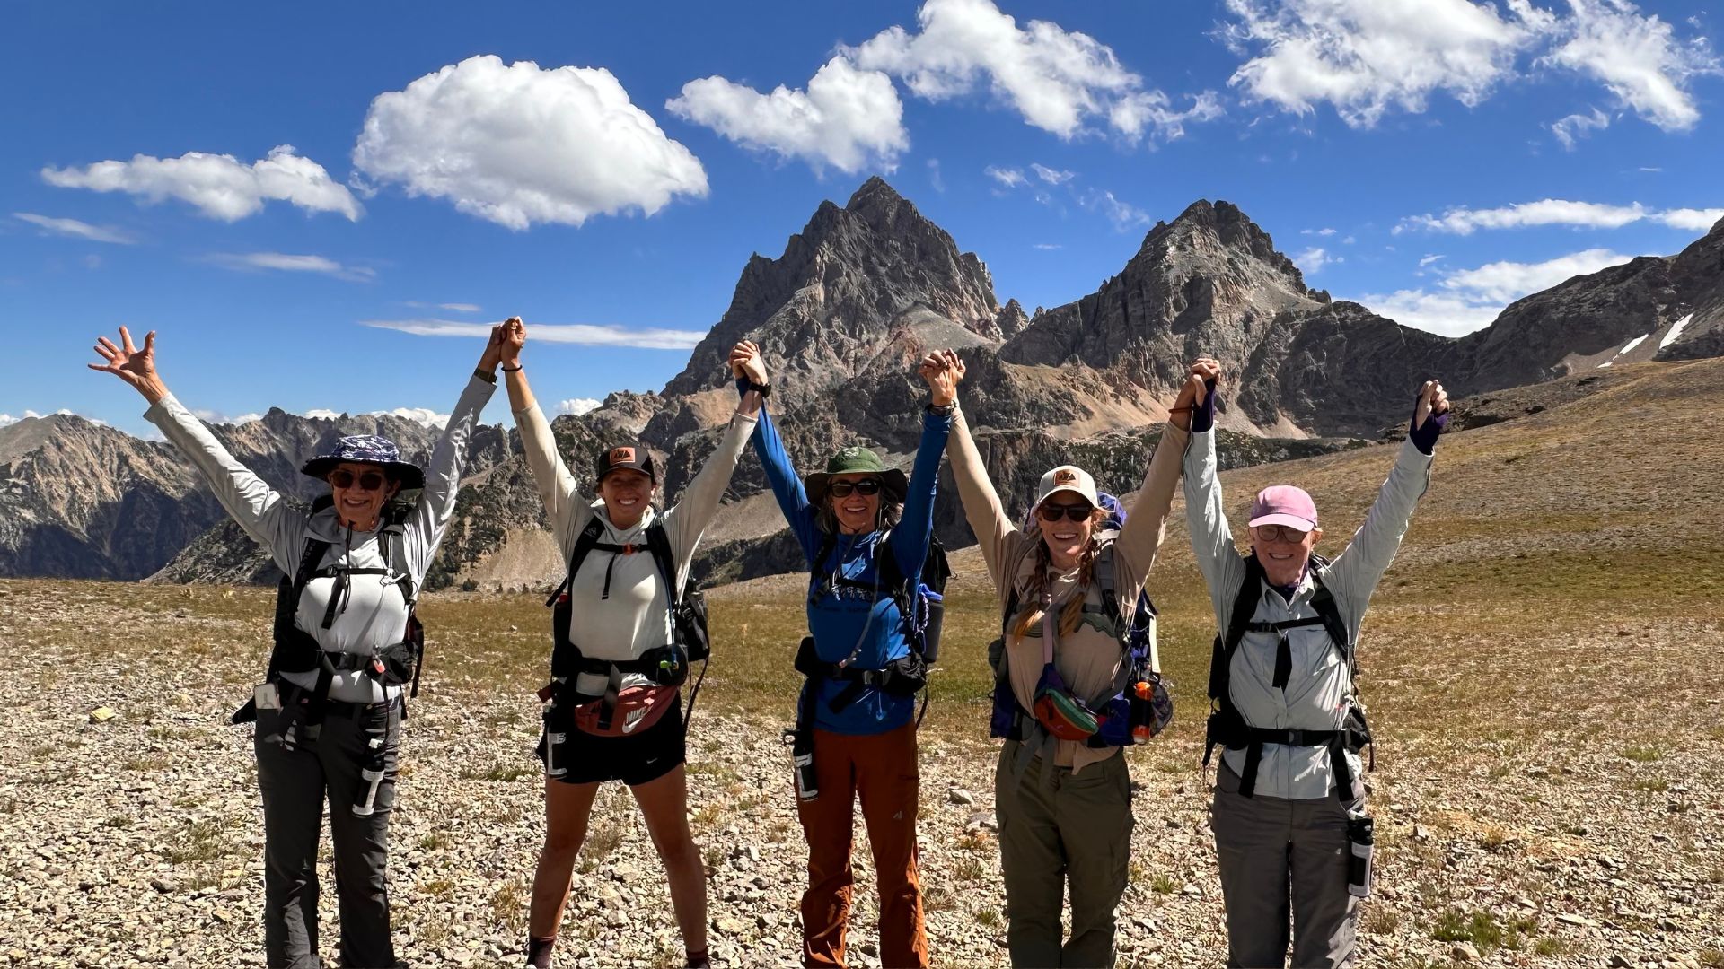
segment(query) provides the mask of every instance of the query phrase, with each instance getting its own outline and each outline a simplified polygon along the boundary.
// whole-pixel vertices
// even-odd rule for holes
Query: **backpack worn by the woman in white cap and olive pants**
[[[1129,621],[1119,605],[1114,540],[1126,526],[1126,509],[1119,498],[1107,491],[1100,491],[1096,498],[1098,507],[1107,510],[1107,519],[1095,531],[1100,548],[1093,562],[1095,583],[1102,588],[1102,605],[1086,603],[1084,610],[1100,612],[1115,628],[1121,653],[1126,657],[1126,662],[1121,664],[1121,676],[1115,678],[1109,695],[1090,703],[1095,707],[1098,729],[1084,743],[1100,748],[1145,743],[1167,729],[1167,724],[1172,722],[1172,693],[1171,685],[1162,679],[1160,653],[1155,645],[1157,612],[1148,590],[1138,593]],[[1029,514],[1024,521],[1024,533],[1029,535],[1034,528],[1034,514]],[[988,645],[988,664],[995,672],[988,736],[1024,740],[1034,717],[1019,707],[1005,667],[1005,636],[1021,605],[1017,576],[1014,574],[1009,581],[1012,590],[1000,617],[1000,638]]]

